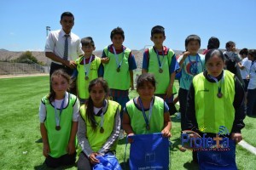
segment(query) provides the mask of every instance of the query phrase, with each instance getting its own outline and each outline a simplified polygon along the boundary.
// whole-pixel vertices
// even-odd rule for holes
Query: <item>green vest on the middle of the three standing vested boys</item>
[[[130,88],[131,77],[129,72],[128,58],[131,53],[131,49],[125,48],[125,56],[123,63],[120,67],[120,71],[116,71],[117,64],[115,60],[115,55],[108,51],[108,47],[104,48],[105,54],[109,58],[108,64],[103,64],[104,66],[104,79],[108,82],[108,87],[118,90],[127,90]],[[117,54],[119,62],[123,58],[123,53]]]

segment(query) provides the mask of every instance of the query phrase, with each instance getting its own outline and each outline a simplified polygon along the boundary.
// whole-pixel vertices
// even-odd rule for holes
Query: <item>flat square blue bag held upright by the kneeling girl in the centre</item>
[[[162,133],[139,134],[130,148],[131,169],[169,169],[169,139]]]

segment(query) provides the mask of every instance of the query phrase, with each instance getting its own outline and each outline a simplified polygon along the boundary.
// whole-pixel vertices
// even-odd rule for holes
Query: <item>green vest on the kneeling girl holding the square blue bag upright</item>
[[[160,97],[154,97],[152,115],[149,120],[150,129],[146,129],[146,122],[143,117],[143,111],[137,109],[133,99],[126,103],[126,109],[131,119],[131,127],[135,134],[160,133],[164,128],[164,100]],[[148,117],[149,111],[145,111]]]

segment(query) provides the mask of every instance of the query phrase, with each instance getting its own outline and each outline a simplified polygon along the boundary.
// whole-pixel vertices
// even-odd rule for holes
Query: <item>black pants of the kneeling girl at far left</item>
[[[61,166],[68,166],[68,165],[73,165],[76,161],[76,156],[77,153],[75,152],[73,155],[64,155],[58,158],[54,158],[51,156],[46,157],[45,159],[45,164],[47,167],[61,167]]]

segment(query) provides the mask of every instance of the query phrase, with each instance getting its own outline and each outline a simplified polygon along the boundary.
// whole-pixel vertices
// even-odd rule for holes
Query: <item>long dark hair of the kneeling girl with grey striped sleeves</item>
[[[102,77],[99,77],[99,78],[96,78],[96,79],[90,81],[90,84],[89,84],[89,87],[88,87],[89,93],[96,84],[101,84],[102,88],[104,89],[104,92],[106,94],[108,94],[108,82],[106,80],[104,80]],[[90,122],[92,130],[95,131],[96,127],[97,127],[97,123],[96,123],[96,120],[95,120],[95,117],[94,117],[95,114],[94,114],[94,111],[93,111],[93,107],[94,107],[93,101],[92,101],[90,96],[89,96],[89,99],[87,100],[87,102],[85,103],[84,107],[86,109],[86,118]]]

